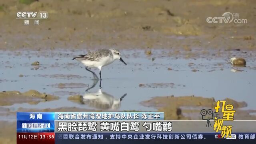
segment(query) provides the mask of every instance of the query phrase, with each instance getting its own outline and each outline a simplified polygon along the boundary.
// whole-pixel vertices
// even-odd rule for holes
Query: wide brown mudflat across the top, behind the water
[[[255,50],[255,1],[240,0],[0,0],[0,49],[54,50],[168,48]],[[24,26],[17,11],[49,13],[40,25]],[[239,13],[247,24],[208,24],[206,18]],[[17,38],[14,41],[13,38]],[[195,53],[194,53],[195,54]]]

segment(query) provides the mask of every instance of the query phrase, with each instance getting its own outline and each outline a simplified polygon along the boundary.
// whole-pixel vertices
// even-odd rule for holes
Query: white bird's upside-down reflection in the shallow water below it
[[[81,98],[81,103],[100,110],[116,110],[120,108],[121,101],[127,94],[124,94],[120,98],[115,98],[106,92],[102,92],[101,89],[94,93],[88,92],[88,90],[94,88],[97,83],[98,80],[94,80],[94,84],[86,90],[87,93]]]

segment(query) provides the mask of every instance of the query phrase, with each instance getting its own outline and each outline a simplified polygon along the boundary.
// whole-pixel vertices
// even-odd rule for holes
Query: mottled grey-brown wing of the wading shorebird
[[[89,52],[85,55],[79,55],[76,58],[73,58],[73,60],[87,60],[87,61],[98,61],[100,58],[108,56],[110,54],[110,51],[107,49],[97,50],[93,52]]]

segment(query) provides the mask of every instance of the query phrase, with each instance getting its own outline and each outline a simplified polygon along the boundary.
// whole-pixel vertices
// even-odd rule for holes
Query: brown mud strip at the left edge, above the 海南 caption
[[[0,92],[0,106],[11,106],[13,104],[29,103],[38,104],[40,102],[58,100],[58,96],[40,93],[36,90],[27,92],[3,91]]]

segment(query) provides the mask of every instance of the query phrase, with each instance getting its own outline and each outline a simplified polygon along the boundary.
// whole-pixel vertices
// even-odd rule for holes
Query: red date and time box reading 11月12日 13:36
[[[17,144],[54,144],[54,132],[17,133]]]

